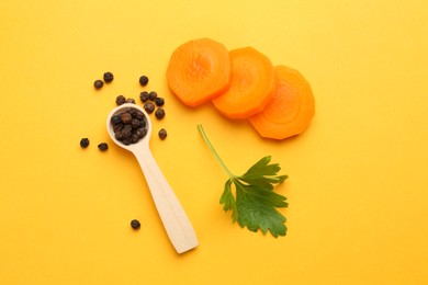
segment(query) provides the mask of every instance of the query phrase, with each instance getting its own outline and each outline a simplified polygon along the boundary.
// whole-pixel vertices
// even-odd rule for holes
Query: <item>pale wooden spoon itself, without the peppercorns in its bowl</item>
[[[127,109],[136,109],[142,111],[146,119],[147,134],[136,144],[125,145],[119,140],[114,134],[112,117]],[[111,139],[120,147],[131,151],[136,157],[139,167],[146,178],[146,182],[155,202],[156,208],[159,213],[160,219],[167,231],[169,240],[178,253],[189,251],[198,247],[198,238],[194,229],[185,215],[179,200],[173,193],[168,181],[160,171],[155,158],[149,148],[149,140],[151,135],[151,121],[140,106],[132,103],[122,104],[113,109],[106,119],[106,128]]]

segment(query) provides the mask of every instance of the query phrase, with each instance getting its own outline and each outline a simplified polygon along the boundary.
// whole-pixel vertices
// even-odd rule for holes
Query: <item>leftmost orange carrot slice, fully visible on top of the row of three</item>
[[[167,82],[188,106],[211,101],[229,87],[230,59],[227,48],[210,38],[180,45],[171,55]]]

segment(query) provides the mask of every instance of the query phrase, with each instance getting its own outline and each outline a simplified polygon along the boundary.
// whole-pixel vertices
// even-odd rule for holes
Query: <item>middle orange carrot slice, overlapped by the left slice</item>
[[[261,112],[273,96],[274,69],[270,59],[252,47],[229,52],[230,87],[213,99],[214,106],[228,118],[247,118]]]

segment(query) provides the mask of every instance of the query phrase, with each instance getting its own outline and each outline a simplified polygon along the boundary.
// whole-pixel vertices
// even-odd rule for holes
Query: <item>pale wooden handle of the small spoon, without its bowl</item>
[[[194,229],[148,146],[133,151],[144,172],[168,237],[178,253],[198,247]]]

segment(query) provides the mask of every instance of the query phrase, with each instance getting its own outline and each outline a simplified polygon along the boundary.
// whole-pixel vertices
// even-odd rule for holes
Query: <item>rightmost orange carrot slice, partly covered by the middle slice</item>
[[[277,66],[277,87],[269,105],[249,122],[260,136],[284,139],[302,134],[315,114],[315,100],[306,79],[285,66]]]

